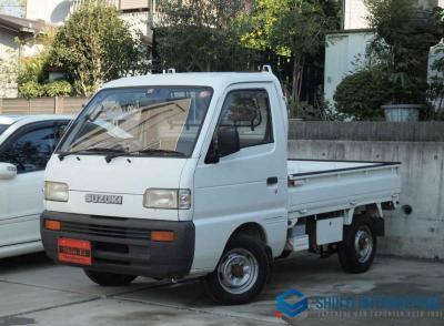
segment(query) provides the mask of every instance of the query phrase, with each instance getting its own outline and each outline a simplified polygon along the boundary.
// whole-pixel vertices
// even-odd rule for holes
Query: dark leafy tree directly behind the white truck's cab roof
[[[254,51],[240,44],[234,21],[243,0],[161,0],[155,28],[158,69],[229,71],[255,69]]]

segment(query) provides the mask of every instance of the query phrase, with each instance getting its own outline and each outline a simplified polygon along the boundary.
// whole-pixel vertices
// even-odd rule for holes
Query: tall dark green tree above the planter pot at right
[[[375,30],[369,57],[382,65],[391,82],[392,103],[424,103],[427,57],[440,40],[433,16],[416,0],[365,0]]]

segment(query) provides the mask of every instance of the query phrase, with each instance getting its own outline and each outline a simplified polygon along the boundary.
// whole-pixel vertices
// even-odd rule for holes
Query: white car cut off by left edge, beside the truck
[[[43,249],[44,166],[69,120],[0,115],[0,258]]]

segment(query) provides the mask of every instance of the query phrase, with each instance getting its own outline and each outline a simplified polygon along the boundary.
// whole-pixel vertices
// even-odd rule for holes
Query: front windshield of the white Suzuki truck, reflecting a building
[[[212,98],[210,88],[148,86],[99,92],[58,152],[191,156]]]

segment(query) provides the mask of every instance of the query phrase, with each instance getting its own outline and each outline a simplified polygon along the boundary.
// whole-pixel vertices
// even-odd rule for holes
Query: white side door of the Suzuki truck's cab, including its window
[[[215,132],[234,128],[240,151],[210,163],[202,155],[194,175],[195,256],[193,268],[216,265],[233,231],[243,224],[261,225],[269,245],[279,254],[286,233],[286,142],[271,84],[230,88]],[[276,141],[279,140],[279,141]],[[211,152],[211,146],[209,152]],[[211,244],[211,245],[209,245]]]

